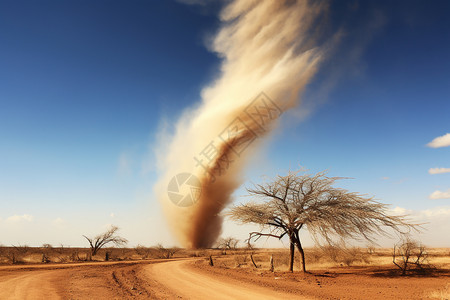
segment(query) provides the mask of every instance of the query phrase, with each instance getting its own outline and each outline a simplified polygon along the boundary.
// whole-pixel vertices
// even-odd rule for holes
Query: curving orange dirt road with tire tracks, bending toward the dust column
[[[192,266],[190,259],[1,267],[0,299],[292,299],[294,296],[228,276],[208,274]]]

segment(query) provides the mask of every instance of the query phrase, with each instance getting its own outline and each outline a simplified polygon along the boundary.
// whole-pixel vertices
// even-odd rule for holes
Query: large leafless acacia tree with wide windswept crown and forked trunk
[[[261,225],[259,232],[251,232],[251,239],[287,236],[290,241],[290,266],[293,271],[297,247],[306,271],[305,253],[300,241],[300,229],[307,228],[316,242],[320,238],[332,244],[336,238],[364,238],[372,241],[373,234],[388,235],[385,228],[403,233],[415,225],[405,216],[390,216],[387,205],[332,185],[342,177],[328,177],[326,172],[315,175],[302,171],[277,176],[273,181],[248,188],[250,196],[263,202],[250,202],[231,208],[228,215],[241,223]]]

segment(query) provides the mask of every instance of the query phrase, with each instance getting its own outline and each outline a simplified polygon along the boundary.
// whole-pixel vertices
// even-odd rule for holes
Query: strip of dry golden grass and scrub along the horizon
[[[399,242],[400,243],[400,242]],[[415,244],[418,245],[418,244]],[[420,276],[439,273],[450,269],[450,249],[448,248],[414,248],[409,257],[393,248],[337,247],[324,246],[305,248],[305,260],[310,272],[351,269],[379,268],[392,276]],[[419,251],[419,252],[417,252]],[[422,254],[420,254],[422,251]],[[395,253],[395,255],[394,255]],[[426,253],[426,255],[425,255]],[[420,266],[416,264],[420,254]],[[426,256],[426,259],[425,259]],[[255,272],[288,272],[290,265],[289,249],[256,249],[241,243],[241,247],[227,249],[217,245],[212,249],[192,249],[164,247],[162,245],[134,248],[105,247],[96,255],[91,255],[90,248],[42,245],[41,247],[1,246],[0,264],[48,264],[48,263],[83,263],[101,261],[154,260],[174,258],[199,258],[205,264],[213,263],[213,268],[247,269]],[[402,261],[408,261],[404,271]],[[294,271],[301,271],[301,257],[295,256]],[[395,261],[395,264],[393,263]]]

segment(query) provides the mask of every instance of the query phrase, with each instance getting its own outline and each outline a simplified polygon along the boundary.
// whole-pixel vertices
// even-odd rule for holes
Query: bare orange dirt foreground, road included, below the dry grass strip
[[[450,272],[270,273],[210,267],[204,259],[0,267],[0,299],[446,299],[449,285]]]

